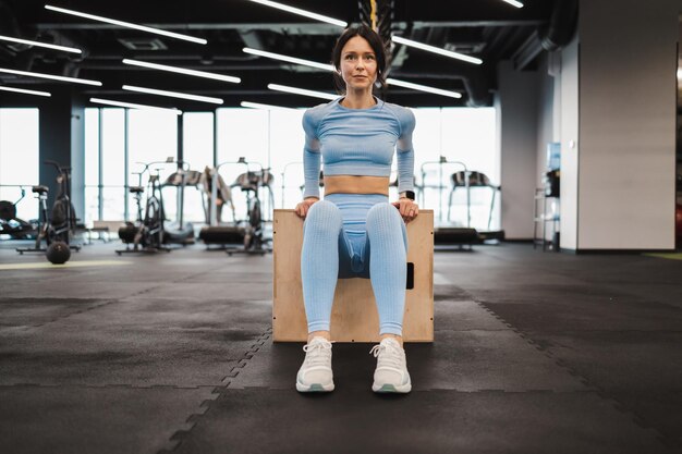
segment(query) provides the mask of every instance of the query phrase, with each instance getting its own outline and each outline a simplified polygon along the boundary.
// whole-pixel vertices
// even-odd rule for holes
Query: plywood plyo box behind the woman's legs
[[[303,220],[294,210],[276,209],[272,225],[272,339],[275,342],[306,342],[307,321],[301,283]],[[419,216],[407,224],[407,263],[413,263],[414,272],[413,289],[405,293],[403,340],[434,342],[433,210],[419,210]],[[337,342],[379,341],[379,316],[369,279],[338,280],[331,312],[331,339]]]

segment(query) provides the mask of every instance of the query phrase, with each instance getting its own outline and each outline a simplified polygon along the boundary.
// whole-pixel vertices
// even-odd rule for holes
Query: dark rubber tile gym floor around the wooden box
[[[96,243],[44,267],[14,246],[3,453],[682,452],[681,260],[437,253],[436,341],[406,345],[413,392],[375,395],[370,345],[336,344],[337,390],[302,395],[302,344],[271,341],[271,256]]]

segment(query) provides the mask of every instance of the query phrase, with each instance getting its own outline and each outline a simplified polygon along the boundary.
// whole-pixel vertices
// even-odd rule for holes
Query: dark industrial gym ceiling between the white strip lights
[[[502,0],[378,0],[392,5],[393,35],[468,53],[484,60],[473,65],[401,45],[393,47],[390,77],[461,91],[461,100],[389,87],[387,99],[404,106],[486,106],[496,89],[496,66],[513,60],[532,68],[541,52],[540,41],[560,0],[522,0],[522,9]],[[106,17],[144,24],[206,38],[192,44],[136,32],[92,20],[48,11],[53,4]],[[282,0],[282,3],[358,24],[369,0]],[[99,96],[187,110],[211,110],[195,101],[138,95],[124,84],[219,97],[224,106],[242,100],[308,107],[321,99],[288,95],[267,88],[269,83],[333,91],[331,75],[305,66],[246,54],[243,47],[329,62],[342,28],[275,10],[247,0],[0,0],[0,35],[82,48],[83,56],[29,48],[0,41],[0,66],[22,71],[90,78],[101,87],[70,85],[85,97]],[[137,50],[131,49],[131,45]],[[146,47],[158,47],[146,50]],[[125,65],[123,58],[241,77],[239,85]],[[0,84],[20,88],[59,89],[45,81],[0,73]],[[59,84],[63,86],[64,84]],[[71,87],[72,86],[72,87]],[[13,102],[23,95],[0,94]],[[27,96],[23,96],[24,99]],[[32,102],[26,100],[25,102]]]

